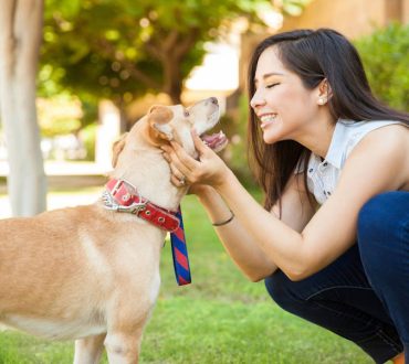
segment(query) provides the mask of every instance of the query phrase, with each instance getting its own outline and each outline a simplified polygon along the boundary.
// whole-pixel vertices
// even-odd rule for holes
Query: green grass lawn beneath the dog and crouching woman
[[[371,363],[353,343],[281,310],[263,282],[244,279],[193,196],[185,199],[182,211],[192,285],[177,286],[167,243],[162,285],[144,334],[140,363]],[[72,360],[71,342],[0,333],[0,364]]]

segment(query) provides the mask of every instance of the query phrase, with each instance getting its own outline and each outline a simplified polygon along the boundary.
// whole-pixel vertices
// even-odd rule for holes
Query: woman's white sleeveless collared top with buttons
[[[402,122],[392,120],[352,121],[343,119],[337,121],[324,161],[314,153],[311,154],[308,160],[308,191],[314,194],[319,204],[323,204],[335,190],[345,161],[354,147],[368,132],[392,124]],[[296,173],[303,172],[303,168],[297,168]]]

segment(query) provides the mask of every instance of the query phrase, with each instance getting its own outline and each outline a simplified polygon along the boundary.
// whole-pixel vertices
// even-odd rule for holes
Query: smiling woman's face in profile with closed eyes
[[[307,89],[295,73],[284,67],[276,49],[266,49],[255,69],[255,93],[250,101],[265,143],[301,140],[317,117],[318,87]]]

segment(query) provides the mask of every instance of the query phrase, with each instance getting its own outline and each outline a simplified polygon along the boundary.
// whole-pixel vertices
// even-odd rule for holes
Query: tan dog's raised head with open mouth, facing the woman
[[[174,140],[182,146],[191,157],[197,158],[198,154],[191,136],[192,130],[217,152],[227,146],[228,140],[222,131],[211,136],[206,135],[208,130],[217,125],[219,117],[220,108],[218,100],[216,97],[210,97],[188,108],[185,108],[182,105],[155,105],[150,107],[147,116],[140,121],[145,122],[144,138],[149,144],[160,147]],[[138,129],[137,127],[140,121],[129,131],[129,136],[124,136],[114,144],[114,167],[120,151],[124,149],[126,139],[132,138],[133,132]]]

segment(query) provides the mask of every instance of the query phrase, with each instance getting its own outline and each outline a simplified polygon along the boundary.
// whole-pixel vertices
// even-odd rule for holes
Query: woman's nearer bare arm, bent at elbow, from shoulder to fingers
[[[366,136],[348,157],[332,196],[301,233],[263,210],[200,138],[195,139],[199,161],[174,146],[172,163],[190,183],[212,185],[265,259],[291,279],[300,280],[327,266],[354,244],[358,213],[371,196],[407,185],[408,132],[406,127],[389,126]],[[262,256],[259,249],[256,256]]]

